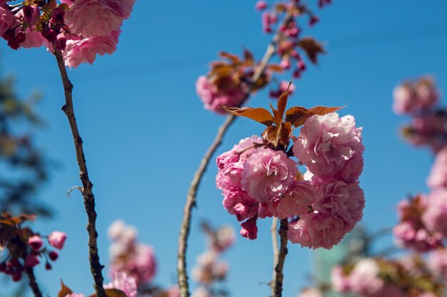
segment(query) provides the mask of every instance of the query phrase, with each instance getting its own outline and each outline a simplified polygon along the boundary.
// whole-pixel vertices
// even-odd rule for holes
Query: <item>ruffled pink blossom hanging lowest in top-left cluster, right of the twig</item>
[[[91,36],[81,40],[66,41],[64,50],[65,65],[69,67],[78,67],[81,63],[92,64],[96,55],[104,56],[116,51],[116,43],[121,31],[112,31],[107,36]]]

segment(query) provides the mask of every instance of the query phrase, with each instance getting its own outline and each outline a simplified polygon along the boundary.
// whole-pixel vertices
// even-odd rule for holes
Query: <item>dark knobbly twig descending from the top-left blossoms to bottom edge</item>
[[[87,223],[87,231],[89,233],[89,261],[90,271],[94,278],[94,287],[97,297],[106,297],[106,293],[103,288],[104,278],[102,276],[102,269],[104,266],[99,262],[98,246],[96,244],[96,238],[98,232],[96,231],[96,211],[95,211],[95,197],[91,190],[93,184],[89,179],[89,173],[87,171],[86,159],[84,157],[84,148],[82,147],[81,135],[79,135],[78,125],[74,116],[73,98],[71,91],[73,85],[69,80],[69,76],[66,73],[64,65],[64,59],[60,52],[55,52],[57,66],[61,73],[62,83],[64,85],[65,105],[62,107],[66,117],[69,119],[71,128],[71,134],[73,135],[74,147],[76,149],[76,160],[79,166],[79,177],[82,182],[82,196],[84,197],[84,207],[86,209],[89,222]]]

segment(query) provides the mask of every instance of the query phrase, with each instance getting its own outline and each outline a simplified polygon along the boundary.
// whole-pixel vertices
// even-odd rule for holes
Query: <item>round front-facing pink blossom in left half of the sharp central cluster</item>
[[[243,162],[242,188],[260,203],[271,202],[291,186],[298,169],[282,151],[261,147]]]

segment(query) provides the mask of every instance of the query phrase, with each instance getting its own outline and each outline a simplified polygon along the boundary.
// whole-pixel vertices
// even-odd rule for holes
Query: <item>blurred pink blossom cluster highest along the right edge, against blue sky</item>
[[[393,92],[393,110],[411,116],[402,135],[412,145],[431,147],[438,152],[447,145],[447,111],[437,103],[439,92],[432,78],[423,77],[398,85]]]

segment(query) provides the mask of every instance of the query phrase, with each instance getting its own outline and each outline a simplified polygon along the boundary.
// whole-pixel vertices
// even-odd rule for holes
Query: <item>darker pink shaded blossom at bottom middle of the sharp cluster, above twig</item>
[[[268,208],[279,219],[307,214],[316,199],[316,188],[306,181],[294,182],[280,197],[276,197]]]

